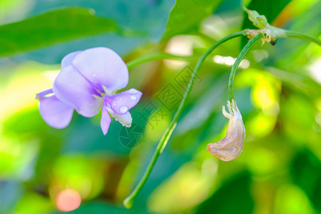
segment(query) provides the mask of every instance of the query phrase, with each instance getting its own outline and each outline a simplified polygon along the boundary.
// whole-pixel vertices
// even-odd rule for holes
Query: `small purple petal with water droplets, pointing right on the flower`
[[[106,99],[115,113],[123,115],[133,106],[136,106],[142,95],[141,91],[131,88],[114,96],[104,96],[104,99]]]

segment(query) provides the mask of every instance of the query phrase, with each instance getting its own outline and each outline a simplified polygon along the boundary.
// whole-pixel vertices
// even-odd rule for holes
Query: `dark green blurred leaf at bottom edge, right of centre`
[[[201,204],[196,213],[253,213],[250,182],[250,173],[236,175]]]

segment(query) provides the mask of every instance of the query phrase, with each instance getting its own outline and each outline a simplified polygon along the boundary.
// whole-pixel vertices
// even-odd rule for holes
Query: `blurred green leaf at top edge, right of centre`
[[[163,39],[198,29],[200,21],[212,14],[220,2],[221,0],[177,0],[168,16]]]

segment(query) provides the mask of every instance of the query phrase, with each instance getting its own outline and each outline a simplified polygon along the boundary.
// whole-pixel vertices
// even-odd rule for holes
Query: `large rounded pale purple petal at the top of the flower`
[[[73,67],[101,93],[111,93],[128,83],[126,63],[111,49],[98,47],[82,51],[73,58]]]

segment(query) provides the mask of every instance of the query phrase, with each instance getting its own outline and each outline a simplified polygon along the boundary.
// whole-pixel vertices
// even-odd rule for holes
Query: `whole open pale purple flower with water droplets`
[[[41,91],[39,111],[54,128],[65,128],[73,110],[85,117],[98,114],[101,106],[101,130],[106,135],[111,116],[123,126],[131,126],[129,110],[142,93],[134,88],[116,93],[128,84],[128,68],[113,50],[98,47],[75,51],[61,61],[61,71],[52,89]]]

